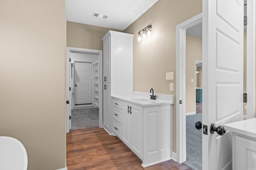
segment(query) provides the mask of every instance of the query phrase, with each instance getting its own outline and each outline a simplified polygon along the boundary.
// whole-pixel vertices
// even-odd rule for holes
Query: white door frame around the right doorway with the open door
[[[186,161],[186,29],[202,22],[202,13],[176,26],[176,161]],[[255,117],[255,2],[247,0],[247,119]],[[182,104],[180,104],[182,101]]]

